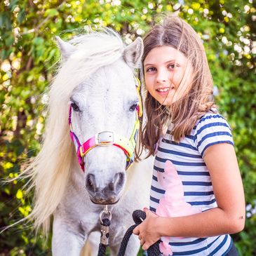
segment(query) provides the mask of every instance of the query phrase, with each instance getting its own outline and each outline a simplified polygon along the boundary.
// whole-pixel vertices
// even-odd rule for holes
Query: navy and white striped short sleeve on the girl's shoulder
[[[234,146],[231,128],[220,114],[206,114],[198,121],[194,143],[202,157],[206,149],[214,144],[229,143]]]

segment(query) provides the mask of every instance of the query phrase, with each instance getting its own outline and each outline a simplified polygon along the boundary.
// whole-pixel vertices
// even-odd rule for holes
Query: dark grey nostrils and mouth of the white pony
[[[116,173],[112,182],[100,185],[95,175],[86,176],[86,189],[90,200],[97,204],[114,204],[119,201],[121,190],[126,181],[125,173]]]

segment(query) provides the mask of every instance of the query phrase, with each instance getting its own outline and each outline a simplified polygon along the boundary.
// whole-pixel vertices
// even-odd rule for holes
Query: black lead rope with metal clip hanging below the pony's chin
[[[107,246],[109,245],[109,226],[110,226],[111,218],[112,218],[112,214],[108,210],[107,206],[105,206],[104,210],[102,210],[102,212],[100,213],[101,237],[100,237],[100,245],[99,245],[97,256],[105,256]],[[135,222],[135,224],[133,224],[133,226],[130,226],[126,231],[126,234],[123,236],[123,240],[119,248],[119,254],[117,256],[125,255],[128,241],[130,239],[130,236],[133,234],[133,229],[135,229],[135,227],[141,224],[142,221],[145,219],[146,219],[146,213],[144,213],[142,210],[135,210],[133,212],[133,221]],[[159,243],[160,243],[160,240],[156,241],[156,243],[154,243],[149,247],[149,249],[147,250],[148,256],[161,255],[161,252],[159,250]]]

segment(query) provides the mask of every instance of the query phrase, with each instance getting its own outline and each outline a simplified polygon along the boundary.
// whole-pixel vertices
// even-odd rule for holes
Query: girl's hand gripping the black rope
[[[147,250],[151,245],[156,243],[156,241],[159,241],[159,238],[161,237],[157,224],[160,217],[147,208],[144,208],[143,210],[147,217],[142,224],[133,229],[133,234],[139,236],[142,249]]]

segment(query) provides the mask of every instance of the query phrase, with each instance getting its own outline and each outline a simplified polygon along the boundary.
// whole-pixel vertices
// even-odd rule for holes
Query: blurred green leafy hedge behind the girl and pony
[[[233,130],[245,188],[245,229],[232,237],[240,255],[256,255],[255,0],[1,0],[0,179],[17,177],[40,149],[48,86],[60,58],[55,36],[69,39],[88,26],[108,26],[130,43],[166,11],[189,22],[206,48],[215,100]],[[25,182],[1,184],[1,228],[31,211]],[[0,234],[0,256],[6,255],[51,255],[50,236],[36,237],[31,223],[17,224]]]

